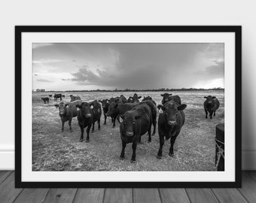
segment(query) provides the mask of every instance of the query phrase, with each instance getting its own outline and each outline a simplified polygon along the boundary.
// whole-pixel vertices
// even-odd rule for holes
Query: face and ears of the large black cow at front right
[[[175,102],[167,102],[165,105],[158,105],[160,114],[164,114],[168,126],[175,126],[177,123],[178,111],[182,111],[187,105],[178,105]]]

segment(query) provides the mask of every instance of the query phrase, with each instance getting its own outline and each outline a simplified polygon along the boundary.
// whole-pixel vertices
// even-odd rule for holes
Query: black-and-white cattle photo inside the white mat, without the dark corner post
[[[223,43],[33,43],[32,171],[215,171]]]

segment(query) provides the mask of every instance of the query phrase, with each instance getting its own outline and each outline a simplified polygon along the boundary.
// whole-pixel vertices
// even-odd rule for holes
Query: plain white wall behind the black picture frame
[[[242,162],[243,169],[256,169],[255,19],[254,1],[2,1],[0,169],[14,169],[16,25],[242,25]]]

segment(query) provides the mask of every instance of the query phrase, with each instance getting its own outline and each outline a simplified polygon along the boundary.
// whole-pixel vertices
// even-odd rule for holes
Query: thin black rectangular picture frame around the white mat
[[[234,182],[23,182],[22,180],[22,34],[24,32],[233,32],[235,34],[236,80],[236,170]],[[242,27],[241,26],[15,26],[15,186],[152,188],[152,187],[241,187],[242,155]],[[23,114],[25,114],[23,112]]]

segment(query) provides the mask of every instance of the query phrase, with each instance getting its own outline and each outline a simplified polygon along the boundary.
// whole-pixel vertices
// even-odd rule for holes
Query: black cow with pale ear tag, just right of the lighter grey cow
[[[81,129],[80,141],[84,141],[84,129],[87,127],[87,139],[90,141],[90,128],[94,132],[94,123],[98,121],[98,129],[100,129],[100,117],[102,116],[102,108],[99,102],[94,100],[93,102],[82,102],[81,105],[77,105],[78,111],[78,125]]]

